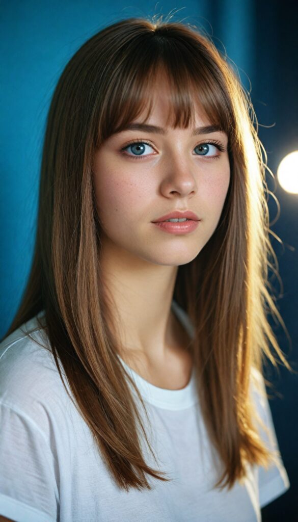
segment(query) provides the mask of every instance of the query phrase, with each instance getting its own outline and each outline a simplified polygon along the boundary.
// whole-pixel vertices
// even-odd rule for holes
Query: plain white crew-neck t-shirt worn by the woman
[[[188,316],[174,301],[172,306],[190,332]],[[34,317],[21,328],[36,325]],[[41,332],[31,335],[44,342]],[[249,468],[245,484],[229,492],[212,489],[219,475],[194,374],[185,388],[168,390],[122,363],[150,416],[147,435],[159,466],[144,445],[146,461],[172,480],[148,476],[151,491],[118,488],[65,392],[51,352],[19,328],[0,344],[0,514],[17,522],[259,522],[260,507],[290,487],[282,460],[268,471]],[[278,449],[267,398],[255,397],[271,430],[267,443]]]

